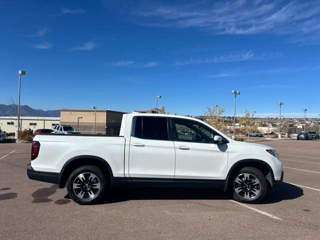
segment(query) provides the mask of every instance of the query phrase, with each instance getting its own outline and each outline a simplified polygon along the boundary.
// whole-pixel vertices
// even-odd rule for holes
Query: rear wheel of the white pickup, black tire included
[[[79,177],[80,174],[83,177]],[[76,184],[75,188],[73,188],[73,183]],[[81,205],[90,205],[102,200],[107,192],[108,182],[100,168],[85,165],[72,171],[66,188],[73,201]]]

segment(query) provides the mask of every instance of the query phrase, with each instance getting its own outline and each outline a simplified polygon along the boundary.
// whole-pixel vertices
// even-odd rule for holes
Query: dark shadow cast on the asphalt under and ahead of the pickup
[[[268,191],[265,198],[258,204],[270,204],[282,200],[291,200],[303,195],[303,190],[295,185],[283,182],[271,192]],[[187,188],[187,187],[132,187],[114,188],[110,196],[106,197],[102,204],[127,200],[225,200],[232,199],[228,193],[220,188]]]

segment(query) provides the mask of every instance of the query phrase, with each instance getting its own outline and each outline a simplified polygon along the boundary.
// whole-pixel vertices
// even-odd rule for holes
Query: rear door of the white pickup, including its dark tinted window
[[[134,116],[129,146],[129,176],[135,183],[173,184],[175,152],[167,117]]]

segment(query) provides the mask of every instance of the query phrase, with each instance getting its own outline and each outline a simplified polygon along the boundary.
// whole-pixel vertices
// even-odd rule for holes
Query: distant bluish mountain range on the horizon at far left
[[[16,116],[17,115],[17,105],[4,105],[0,104],[0,116]],[[20,106],[21,116],[52,116],[60,117],[60,110],[41,110],[33,109],[28,105]]]

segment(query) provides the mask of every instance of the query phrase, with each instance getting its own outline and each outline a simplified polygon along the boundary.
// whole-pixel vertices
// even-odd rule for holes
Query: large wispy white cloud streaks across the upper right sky
[[[320,2],[309,1],[169,1],[128,4],[142,25],[200,28],[214,34],[292,34],[320,36]],[[140,20],[141,18],[142,20]]]

